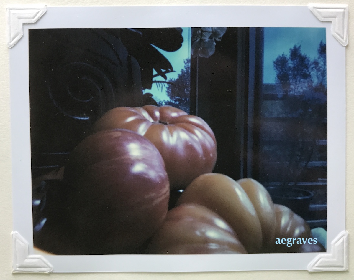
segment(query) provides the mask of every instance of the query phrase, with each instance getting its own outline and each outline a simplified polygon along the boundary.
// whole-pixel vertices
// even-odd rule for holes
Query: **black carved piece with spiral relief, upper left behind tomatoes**
[[[142,106],[140,73],[119,29],[29,30],[32,150],[70,151],[109,109]]]

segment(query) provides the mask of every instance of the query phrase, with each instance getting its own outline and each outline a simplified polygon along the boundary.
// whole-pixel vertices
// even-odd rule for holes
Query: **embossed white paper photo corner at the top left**
[[[46,11],[47,6],[6,8],[7,46],[11,48],[21,39],[24,23],[35,23]]]

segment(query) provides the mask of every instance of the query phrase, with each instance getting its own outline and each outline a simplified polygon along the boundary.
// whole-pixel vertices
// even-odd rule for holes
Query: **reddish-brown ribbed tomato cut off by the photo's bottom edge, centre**
[[[182,204],[167,213],[148,244],[148,254],[247,253],[232,228],[214,211]]]

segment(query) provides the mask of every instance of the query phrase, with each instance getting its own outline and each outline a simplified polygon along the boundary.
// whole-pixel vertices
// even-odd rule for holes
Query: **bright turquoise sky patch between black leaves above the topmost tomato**
[[[179,48],[178,51],[166,52],[158,47],[155,47],[170,61],[173,70],[175,71],[166,75],[167,80],[169,80],[170,78],[177,78],[178,74],[181,73],[181,70],[184,69],[184,60],[190,58],[190,28],[182,28],[182,30],[183,43],[182,47]],[[154,74],[156,74],[155,71]],[[161,77],[156,77],[154,80],[164,81],[164,79]],[[145,89],[143,91],[143,93],[147,92],[151,93],[156,101],[170,100],[170,98],[167,97],[166,94],[166,87],[162,87],[161,91],[161,87],[157,88],[156,83],[153,83],[151,89]]]

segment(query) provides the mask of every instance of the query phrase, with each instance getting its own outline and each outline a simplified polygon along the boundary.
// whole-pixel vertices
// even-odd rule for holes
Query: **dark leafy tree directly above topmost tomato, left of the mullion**
[[[184,60],[184,69],[176,79],[169,79],[166,88],[170,101],[160,102],[159,105],[170,105],[185,112],[189,112],[190,106],[190,59]]]

